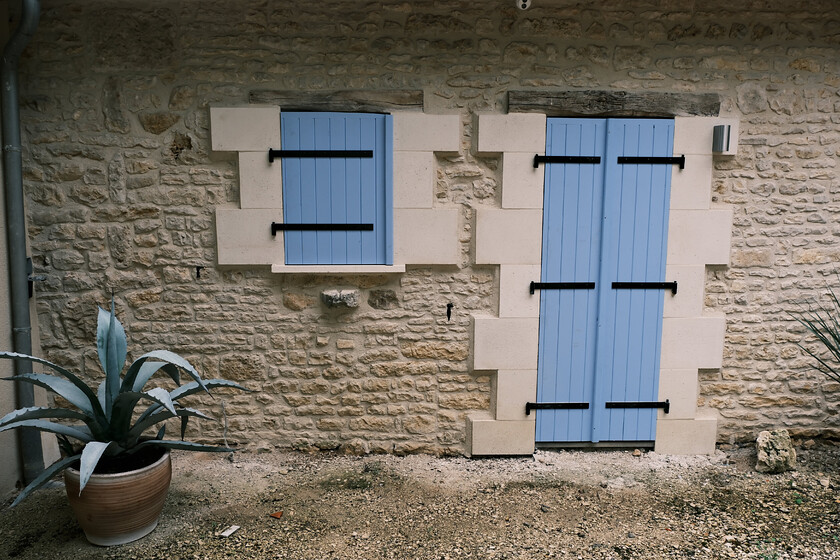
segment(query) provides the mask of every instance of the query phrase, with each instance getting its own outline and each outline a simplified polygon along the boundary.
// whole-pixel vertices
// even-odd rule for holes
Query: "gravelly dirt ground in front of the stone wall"
[[[798,470],[776,475],[753,470],[751,449],[484,460],[178,453],[151,535],[89,545],[53,487],[0,509],[0,558],[840,559],[840,444],[797,451]]]

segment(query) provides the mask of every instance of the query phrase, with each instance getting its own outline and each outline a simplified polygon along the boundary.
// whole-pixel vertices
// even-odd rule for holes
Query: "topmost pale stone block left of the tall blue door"
[[[478,153],[545,153],[546,116],[539,113],[478,115]]]

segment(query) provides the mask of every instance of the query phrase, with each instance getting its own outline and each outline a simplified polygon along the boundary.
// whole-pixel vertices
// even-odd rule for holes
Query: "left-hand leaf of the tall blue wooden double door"
[[[542,282],[598,280],[605,137],[603,119],[548,122],[546,155],[600,156],[601,163],[546,166]],[[595,289],[540,293],[537,402],[591,403],[597,304]],[[537,441],[589,441],[592,413],[591,406],[539,411]]]

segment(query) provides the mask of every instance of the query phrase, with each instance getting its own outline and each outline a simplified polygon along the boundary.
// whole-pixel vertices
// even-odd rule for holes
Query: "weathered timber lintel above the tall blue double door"
[[[716,93],[627,91],[511,91],[508,112],[549,117],[716,117]]]

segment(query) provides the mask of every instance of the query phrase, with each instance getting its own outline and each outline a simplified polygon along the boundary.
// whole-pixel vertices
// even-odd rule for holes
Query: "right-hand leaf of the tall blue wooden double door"
[[[650,441],[655,408],[604,409],[606,402],[656,401],[662,339],[662,290],[611,289],[613,282],[665,280],[673,166],[619,164],[619,156],[668,157],[674,123],[615,119],[607,124],[607,164],[599,290],[593,441]]]

